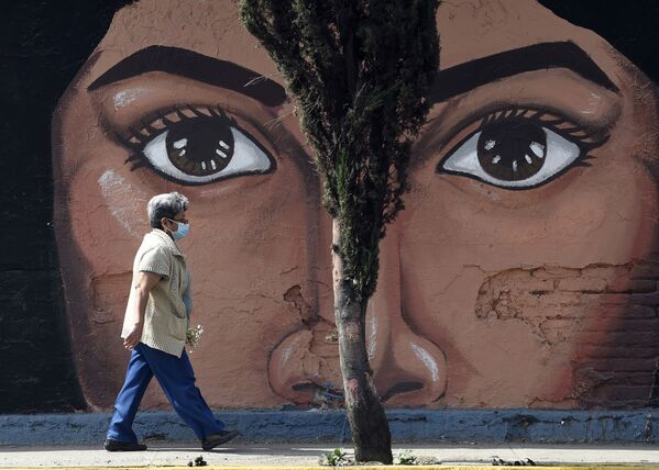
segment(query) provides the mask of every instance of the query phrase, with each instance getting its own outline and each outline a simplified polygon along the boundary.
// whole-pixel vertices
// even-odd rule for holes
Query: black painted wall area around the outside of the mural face
[[[0,29],[0,413],[84,409],[52,227],[51,114],[129,0],[3,3]],[[659,82],[659,2],[542,0]],[[656,387],[657,389],[657,387]],[[657,394],[655,394],[657,395]]]

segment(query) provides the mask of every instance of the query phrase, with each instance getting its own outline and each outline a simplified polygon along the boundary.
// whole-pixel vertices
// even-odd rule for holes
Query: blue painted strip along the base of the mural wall
[[[350,439],[341,410],[217,411],[248,440]],[[527,443],[659,443],[659,411],[388,410],[395,440]],[[108,413],[0,415],[0,445],[94,444],[105,439]],[[142,439],[195,440],[174,412],[141,412]]]

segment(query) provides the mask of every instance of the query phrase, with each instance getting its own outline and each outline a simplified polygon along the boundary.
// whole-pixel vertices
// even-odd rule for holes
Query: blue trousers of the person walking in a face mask
[[[201,392],[195,387],[195,371],[186,351],[177,358],[139,343],[131,354],[125,382],[114,403],[114,414],[108,429],[109,439],[138,443],[133,433],[133,419],[153,376],[176,413],[199,439],[224,428],[224,423],[216,419]]]

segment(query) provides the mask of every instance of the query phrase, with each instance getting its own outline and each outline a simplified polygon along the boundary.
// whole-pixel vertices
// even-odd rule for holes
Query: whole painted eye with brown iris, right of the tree
[[[529,189],[561,175],[579,163],[589,137],[576,127],[543,125],[538,113],[484,120],[475,133],[458,144],[437,170],[476,178],[507,189]],[[556,120],[552,121],[556,124]]]

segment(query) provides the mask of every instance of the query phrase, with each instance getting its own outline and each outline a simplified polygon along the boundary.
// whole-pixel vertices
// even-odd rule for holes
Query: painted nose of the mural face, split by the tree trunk
[[[391,228],[394,228],[393,226]],[[395,230],[381,243],[378,287],[366,310],[366,350],[377,392],[389,406],[422,406],[439,400],[447,384],[443,351],[413,331],[400,305],[400,269]],[[329,315],[316,315],[288,335],[272,352],[270,383],[279,396],[299,405],[342,403],[337,331],[329,302],[317,304]]]

